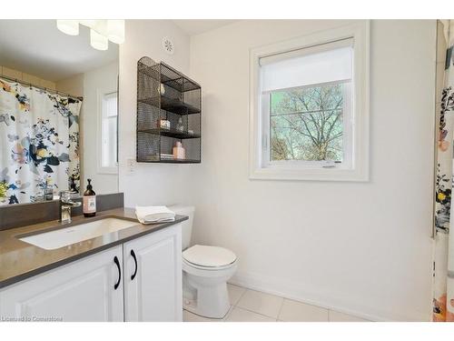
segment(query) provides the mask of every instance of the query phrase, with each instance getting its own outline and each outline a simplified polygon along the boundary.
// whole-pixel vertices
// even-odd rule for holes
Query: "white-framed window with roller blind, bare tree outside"
[[[250,176],[368,178],[368,25],[252,50]]]

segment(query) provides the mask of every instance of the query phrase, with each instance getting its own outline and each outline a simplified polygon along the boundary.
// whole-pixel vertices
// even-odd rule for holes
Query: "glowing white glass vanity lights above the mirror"
[[[57,20],[57,28],[66,35],[79,35],[79,24],[90,28],[90,45],[100,51],[109,48],[109,40],[124,43],[124,20]]]

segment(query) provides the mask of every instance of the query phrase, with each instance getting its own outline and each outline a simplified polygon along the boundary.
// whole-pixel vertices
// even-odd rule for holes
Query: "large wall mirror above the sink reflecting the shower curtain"
[[[0,205],[118,191],[118,45],[78,30],[0,20]]]

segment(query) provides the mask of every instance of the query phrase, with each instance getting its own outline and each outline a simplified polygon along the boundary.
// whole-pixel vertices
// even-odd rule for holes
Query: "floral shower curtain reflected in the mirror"
[[[0,205],[79,188],[78,99],[0,77]]]

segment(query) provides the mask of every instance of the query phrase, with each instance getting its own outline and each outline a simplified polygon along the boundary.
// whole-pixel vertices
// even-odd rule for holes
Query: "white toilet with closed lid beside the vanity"
[[[193,206],[169,206],[183,221],[183,308],[200,316],[222,318],[230,308],[227,281],[237,268],[238,258],[219,246],[190,246]]]

